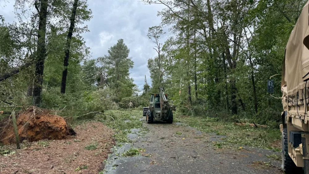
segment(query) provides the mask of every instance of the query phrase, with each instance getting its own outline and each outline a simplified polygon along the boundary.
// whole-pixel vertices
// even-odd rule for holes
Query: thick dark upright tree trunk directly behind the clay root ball
[[[34,77],[34,88],[33,88],[33,104],[37,107],[41,105],[41,93],[43,88],[43,72],[44,62],[46,57],[45,48],[45,36],[46,36],[46,21],[47,21],[47,8],[48,0],[40,1],[40,12],[39,12],[39,31],[36,51],[36,70]]]

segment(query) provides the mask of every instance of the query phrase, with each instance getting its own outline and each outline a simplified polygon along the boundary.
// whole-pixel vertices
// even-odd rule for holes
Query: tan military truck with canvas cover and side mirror
[[[309,174],[309,1],[291,32],[282,67],[282,170]],[[273,92],[273,81],[268,91]]]

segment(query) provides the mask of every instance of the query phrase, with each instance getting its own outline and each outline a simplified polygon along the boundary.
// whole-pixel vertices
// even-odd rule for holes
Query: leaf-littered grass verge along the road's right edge
[[[255,128],[250,125],[239,126],[232,122],[219,121],[218,118],[210,117],[180,117],[174,115],[175,122],[194,127],[204,133],[216,133],[226,135],[225,142],[238,145],[254,146],[264,149],[274,149],[272,142],[281,139],[280,129],[273,126],[266,128]]]

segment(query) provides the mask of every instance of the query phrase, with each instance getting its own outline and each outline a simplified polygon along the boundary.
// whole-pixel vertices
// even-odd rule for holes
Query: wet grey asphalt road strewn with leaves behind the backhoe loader
[[[142,118],[145,119],[145,118]],[[272,150],[237,145],[218,148],[222,136],[204,134],[180,123],[143,124],[149,132],[141,135],[138,129],[128,135],[133,143],[113,149],[105,166],[107,174],[260,174],[283,173],[281,162],[266,155]],[[181,133],[181,134],[180,134]],[[130,148],[144,148],[143,155],[123,157]],[[120,155],[117,155],[120,154]],[[151,155],[151,156],[150,156]]]

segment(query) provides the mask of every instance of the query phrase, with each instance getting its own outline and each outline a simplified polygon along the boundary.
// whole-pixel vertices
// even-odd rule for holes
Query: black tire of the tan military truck
[[[292,174],[296,171],[299,171],[302,173],[303,169],[300,167],[297,167],[294,163],[294,161],[291,159],[289,152],[288,152],[288,133],[287,129],[284,128],[282,131],[282,163],[281,163],[281,169],[286,174]]]

